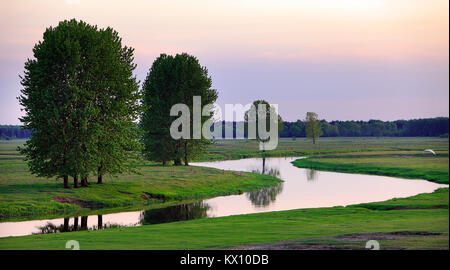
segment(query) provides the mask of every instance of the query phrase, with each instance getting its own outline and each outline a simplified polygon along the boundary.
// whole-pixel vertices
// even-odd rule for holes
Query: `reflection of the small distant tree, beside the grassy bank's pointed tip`
[[[274,167],[266,167],[266,158],[262,159],[262,170],[252,170],[254,173],[267,174],[274,177],[280,176],[280,169]],[[257,191],[247,192],[245,195],[254,206],[265,207],[274,202],[277,195],[283,191],[283,182],[271,187],[264,187]]]

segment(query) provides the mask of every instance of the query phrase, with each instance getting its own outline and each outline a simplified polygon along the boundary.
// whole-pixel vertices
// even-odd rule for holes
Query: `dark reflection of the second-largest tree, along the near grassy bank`
[[[149,209],[141,214],[140,223],[148,225],[205,218],[208,216],[208,209],[210,209],[210,206],[203,201]]]

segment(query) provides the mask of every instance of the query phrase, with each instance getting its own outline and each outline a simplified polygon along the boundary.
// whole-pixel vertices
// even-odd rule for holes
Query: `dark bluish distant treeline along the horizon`
[[[322,137],[448,137],[449,118],[436,117],[413,120],[397,121],[320,121]],[[231,126],[227,122],[223,126],[222,137],[225,137],[225,126]],[[233,137],[236,135],[236,123],[233,123]],[[0,125],[0,139],[25,139],[30,137],[30,131],[17,125]],[[280,137],[305,137],[305,123],[284,122],[284,129],[280,131]]]

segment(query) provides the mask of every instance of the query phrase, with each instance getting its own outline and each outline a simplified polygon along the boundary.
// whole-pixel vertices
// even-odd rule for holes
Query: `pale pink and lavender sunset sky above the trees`
[[[265,99],[287,121],[449,116],[448,0],[2,0],[0,124],[20,124],[34,44],[72,18],[118,31],[141,83],[161,53],[196,56],[222,110]]]

